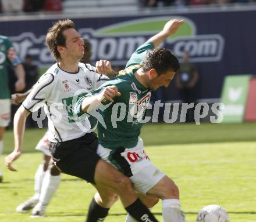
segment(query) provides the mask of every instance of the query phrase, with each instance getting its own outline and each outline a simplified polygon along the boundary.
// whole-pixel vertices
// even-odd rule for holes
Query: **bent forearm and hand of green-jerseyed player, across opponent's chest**
[[[94,108],[99,107],[105,100],[113,102],[115,96],[121,96],[121,93],[118,92],[118,88],[116,86],[106,86],[106,88],[103,88],[93,96],[85,97],[81,102],[80,110],[83,112],[90,112]]]

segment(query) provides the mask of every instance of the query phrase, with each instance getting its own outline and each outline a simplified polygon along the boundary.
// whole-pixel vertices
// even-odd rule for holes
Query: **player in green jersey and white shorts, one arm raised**
[[[171,20],[163,31],[140,46],[127,63],[126,75],[104,83],[80,98],[76,112],[95,114],[99,108],[99,146],[97,153],[105,161],[130,177],[141,194],[162,199],[163,221],[185,221],[179,201],[179,189],[172,179],[152,165],[139,137],[151,91],[168,87],[179,61],[167,49],[155,48],[176,31],[183,20]],[[175,28],[173,28],[175,27]],[[155,49],[154,49],[155,48]],[[130,67],[130,68],[129,68]],[[129,220],[131,221],[131,220]]]

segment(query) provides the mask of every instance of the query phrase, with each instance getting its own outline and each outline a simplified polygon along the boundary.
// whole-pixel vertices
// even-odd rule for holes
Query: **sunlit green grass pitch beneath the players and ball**
[[[34,173],[41,161],[34,146],[45,129],[27,130],[24,154],[15,166],[19,172],[3,169],[0,184],[0,221],[84,221],[95,192],[92,185],[62,175],[62,183],[47,208],[47,217],[30,219],[15,208],[33,195]],[[180,189],[182,208],[188,222],[195,221],[205,205],[218,204],[232,222],[256,221],[256,123],[243,124],[149,124],[141,137],[151,161]],[[13,148],[12,132],[5,134],[5,154]],[[161,203],[152,209],[159,221]],[[126,212],[117,202],[106,222],[125,221]]]

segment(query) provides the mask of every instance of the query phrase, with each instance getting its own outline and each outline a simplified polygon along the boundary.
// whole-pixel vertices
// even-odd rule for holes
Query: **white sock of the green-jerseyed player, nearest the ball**
[[[162,202],[164,222],[185,222],[179,199],[164,199]]]

